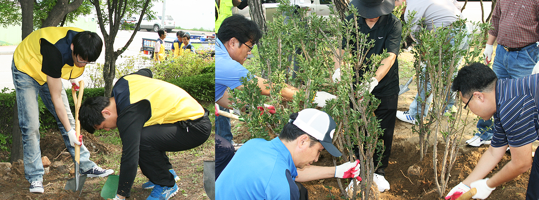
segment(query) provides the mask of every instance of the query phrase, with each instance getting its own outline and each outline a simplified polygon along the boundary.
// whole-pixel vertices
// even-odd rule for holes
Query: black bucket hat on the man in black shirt
[[[357,9],[361,17],[371,19],[391,13],[395,0],[352,0],[350,5]]]

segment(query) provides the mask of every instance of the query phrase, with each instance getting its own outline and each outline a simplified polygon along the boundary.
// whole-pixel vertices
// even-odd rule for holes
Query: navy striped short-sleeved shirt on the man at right
[[[519,147],[538,139],[539,74],[496,83],[493,147]]]

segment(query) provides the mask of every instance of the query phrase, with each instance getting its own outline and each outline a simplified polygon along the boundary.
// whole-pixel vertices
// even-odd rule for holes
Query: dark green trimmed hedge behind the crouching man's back
[[[215,73],[203,73],[202,75],[175,78],[170,79],[168,82],[181,87],[191,97],[197,100],[214,100]]]

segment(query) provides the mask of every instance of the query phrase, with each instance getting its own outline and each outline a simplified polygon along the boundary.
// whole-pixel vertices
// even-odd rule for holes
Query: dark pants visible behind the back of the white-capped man
[[[234,156],[234,146],[225,138],[215,135],[215,180]]]

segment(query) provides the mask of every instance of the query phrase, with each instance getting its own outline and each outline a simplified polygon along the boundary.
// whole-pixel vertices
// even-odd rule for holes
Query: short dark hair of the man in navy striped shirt
[[[460,91],[462,96],[472,95],[475,91],[490,91],[496,83],[496,73],[487,65],[472,63],[464,66],[453,80],[451,89]]]

